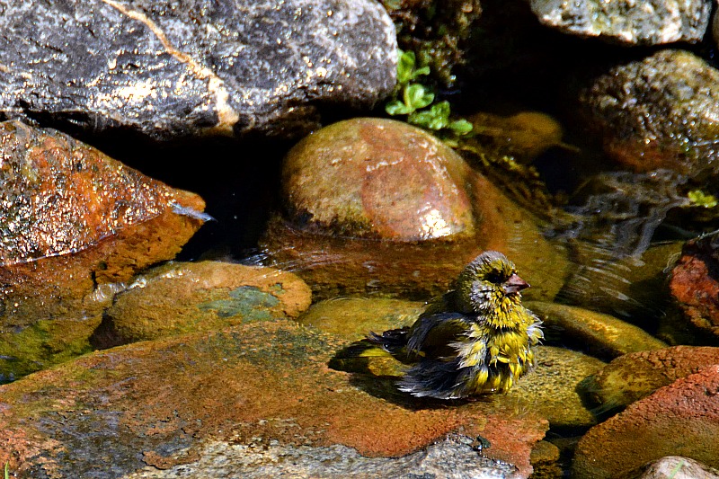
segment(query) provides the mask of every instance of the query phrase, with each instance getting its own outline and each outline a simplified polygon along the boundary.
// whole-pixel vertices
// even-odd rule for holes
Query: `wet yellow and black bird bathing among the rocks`
[[[544,339],[541,320],[521,303],[528,287],[504,254],[486,251],[412,326],[370,332],[366,341],[407,365],[396,383],[404,393],[437,399],[506,393],[535,367],[532,347]]]

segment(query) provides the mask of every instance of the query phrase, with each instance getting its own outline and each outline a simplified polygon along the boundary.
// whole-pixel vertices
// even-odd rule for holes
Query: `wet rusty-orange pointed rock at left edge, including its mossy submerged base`
[[[0,382],[90,349],[122,282],[172,259],[204,202],[53,129],[0,123]]]

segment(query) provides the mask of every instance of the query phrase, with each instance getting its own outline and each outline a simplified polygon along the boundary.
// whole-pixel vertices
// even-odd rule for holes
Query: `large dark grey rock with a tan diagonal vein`
[[[0,114],[92,134],[296,137],[395,86],[370,0],[17,3],[0,30]]]

